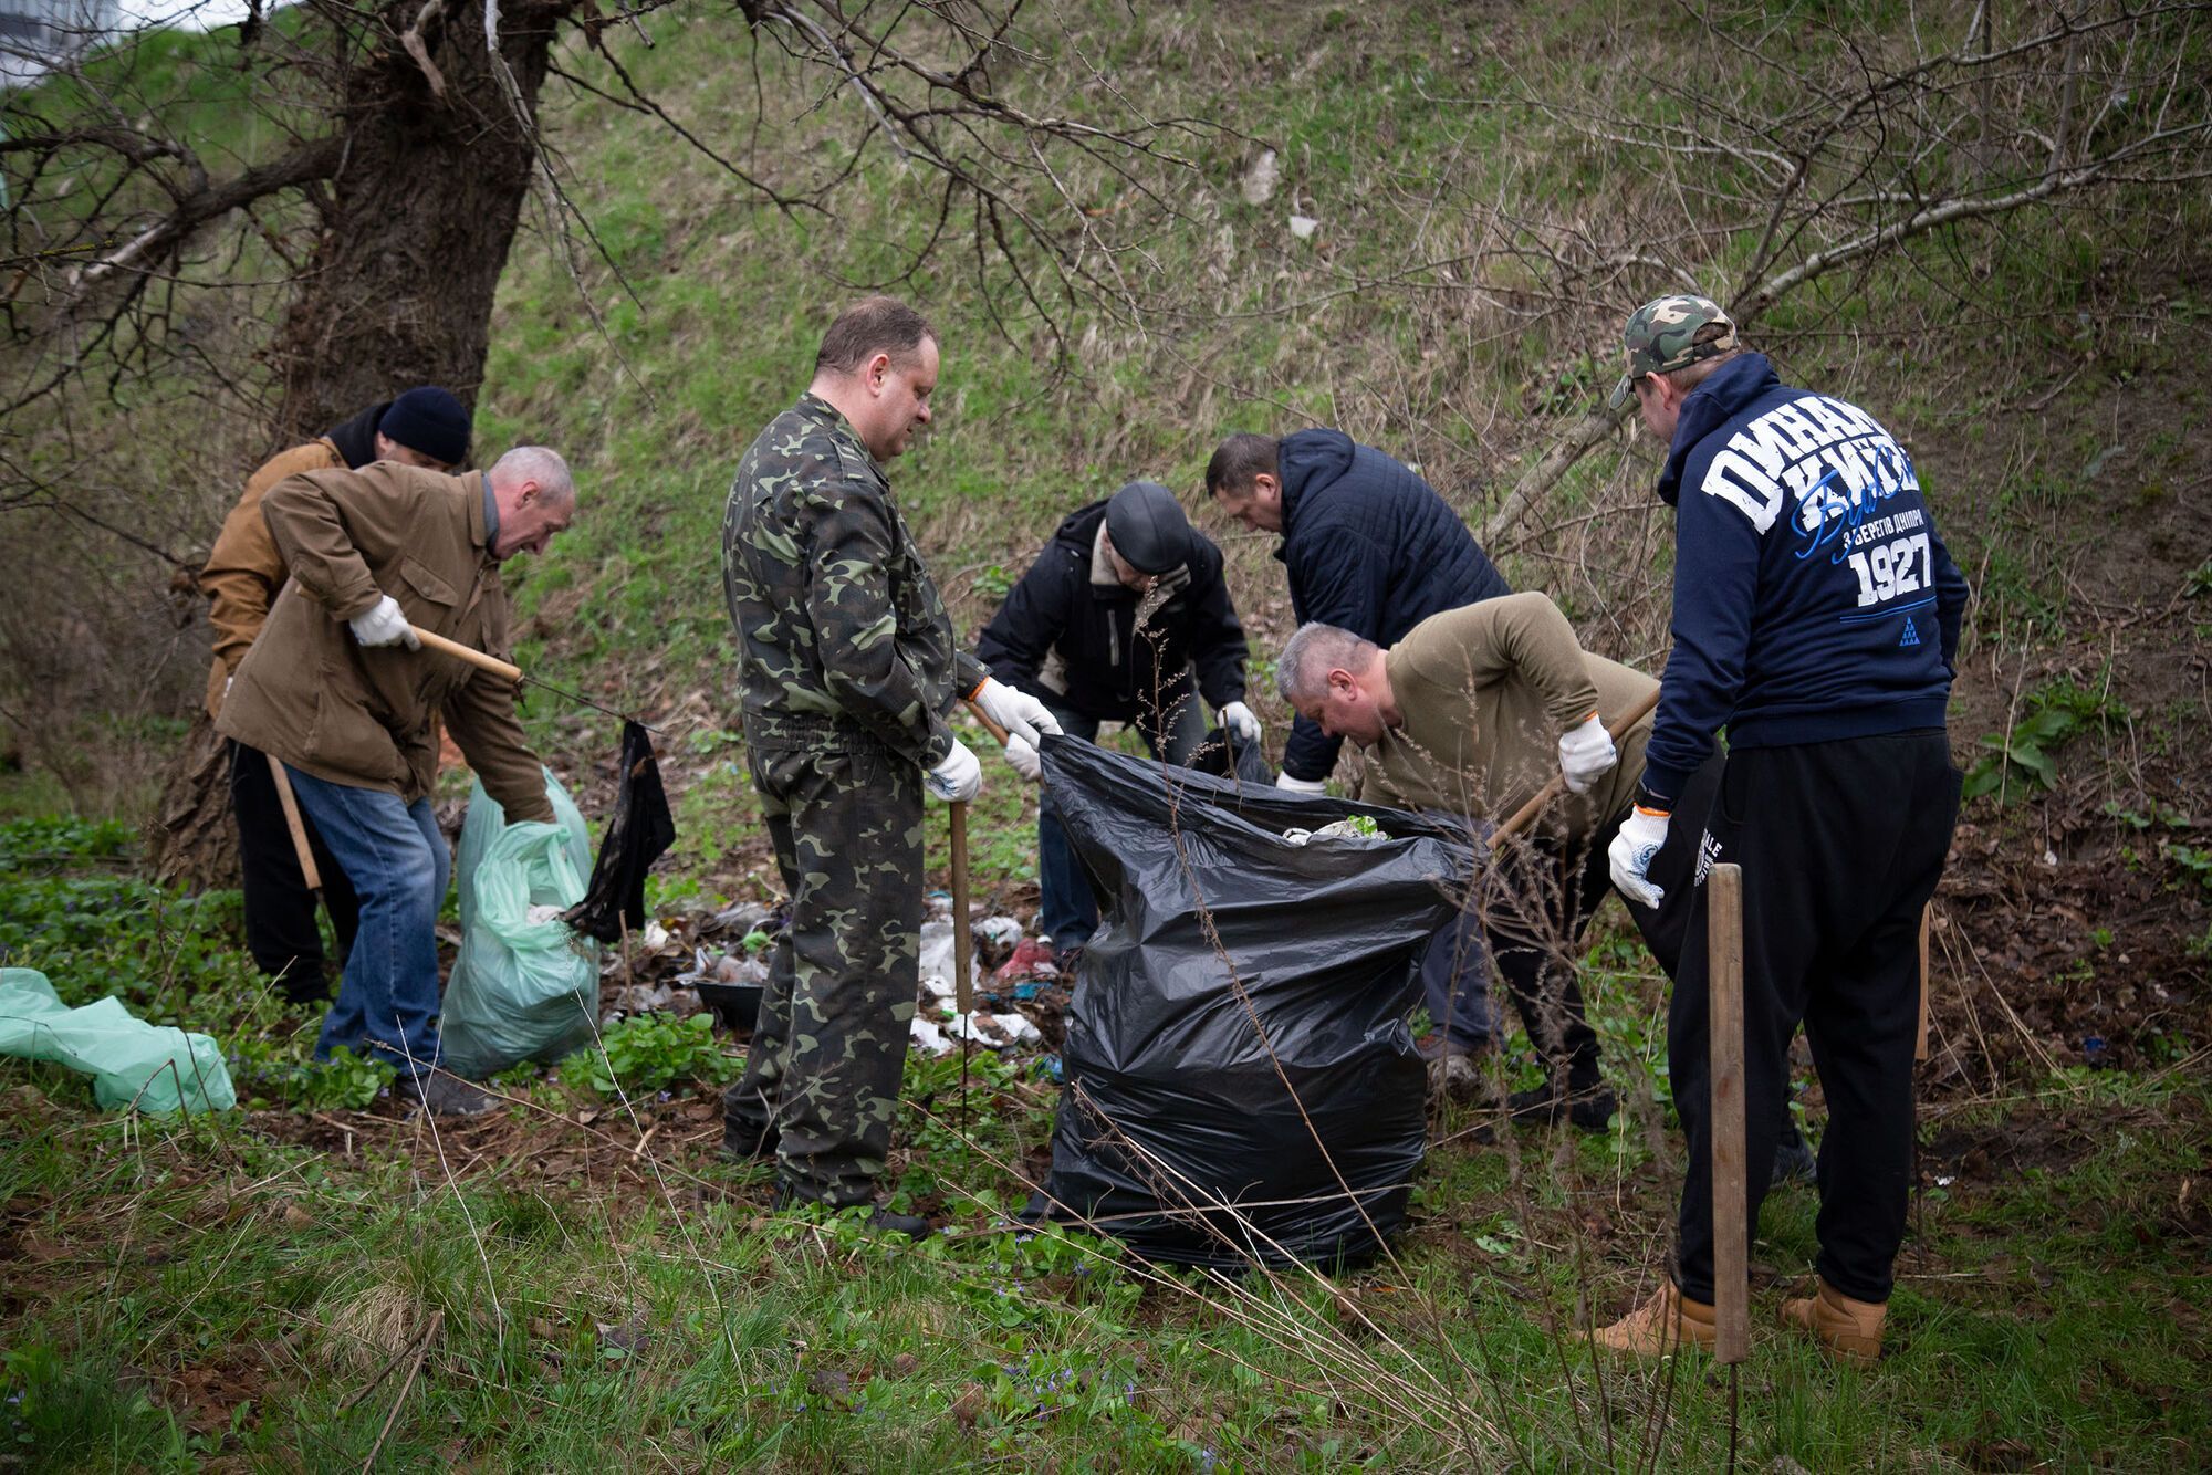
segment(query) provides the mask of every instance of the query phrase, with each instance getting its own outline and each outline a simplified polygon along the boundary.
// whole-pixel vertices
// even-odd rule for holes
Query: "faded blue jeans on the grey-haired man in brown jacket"
[[[438,1064],[438,907],[453,869],[453,854],[438,831],[429,801],[411,805],[398,794],[358,789],[303,774],[290,763],[292,792],[323,843],[338,858],[361,924],[345,958],[338,1002],[323,1017],[314,1057],[345,1046],[376,1053],[403,1077]]]

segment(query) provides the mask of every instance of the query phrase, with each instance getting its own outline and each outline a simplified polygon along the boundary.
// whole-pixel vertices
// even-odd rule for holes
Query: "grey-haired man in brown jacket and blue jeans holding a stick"
[[[316,1057],[336,1048],[398,1068],[429,1110],[489,1099],[438,1064],[431,927],[451,856],[429,792],[438,719],[513,820],[551,820],[544,767],[495,677],[420,648],[414,626],[487,652],[507,648],[500,562],[542,553],[575,517],[568,467],[520,447],[491,471],[445,475],[398,462],[307,471],[261,500],[292,571],[246,652],[217,730],[276,756],[301,809],[361,896],[361,929]]]

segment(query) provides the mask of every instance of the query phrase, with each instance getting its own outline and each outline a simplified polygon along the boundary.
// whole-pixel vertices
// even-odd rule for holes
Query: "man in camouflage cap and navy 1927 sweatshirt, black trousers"
[[[1889,431],[1783,385],[1717,303],[1663,296],[1621,338],[1613,405],[1635,394],[1668,442],[1659,498],[1674,506],[1677,553],[1674,652],[1613,882],[1659,904],[1652,856],[1674,825],[1701,834],[1668,1008],[1690,1150],[1674,1274],[1595,1338],[1641,1356],[1714,1338],[1703,878],[1730,862],[1743,867],[1745,1099],[1781,1097],[1803,1019],[1829,1106],[1820,1278],[1783,1318],[1832,1356],[1874,1362],[1911,1185],[1920,913],[1958,820],[1944,703],[1966,579]],[[1721,728],[1719,796],[1697,814],[1683,792]],[[1772,1115],[1747,1112],[1745,1128],[1756,1230]]]

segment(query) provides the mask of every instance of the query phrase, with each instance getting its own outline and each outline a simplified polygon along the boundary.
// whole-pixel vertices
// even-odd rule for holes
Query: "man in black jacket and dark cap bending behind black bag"
[[[1095,741],[1099,723],[1135,723],[1164,763],[1190,763],[1206,739],[1194,694],[1234,741],[1259,741],[1243,701],[1245,655],[1221,548],[1159,482],[1130,482],[1068,513],[975,641],[991,674],[1040,697],[1071,736]],[[1006,761],[1037,778],[1026,741],[1006,743]],[[1051,794],[1037,803],[1037,882],[1053,946],[1082,946],[1097,900]]]

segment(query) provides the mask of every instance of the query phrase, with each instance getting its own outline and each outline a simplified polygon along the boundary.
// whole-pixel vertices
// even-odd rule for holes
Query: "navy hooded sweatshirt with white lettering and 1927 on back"
[[[1652,798],[1681,794],[1723,725],[1730,747],[1944,725],[1966,579],[1874,416],[1743,354],[1683,400],[1659,495],[1674,652],[1644,754]]]

